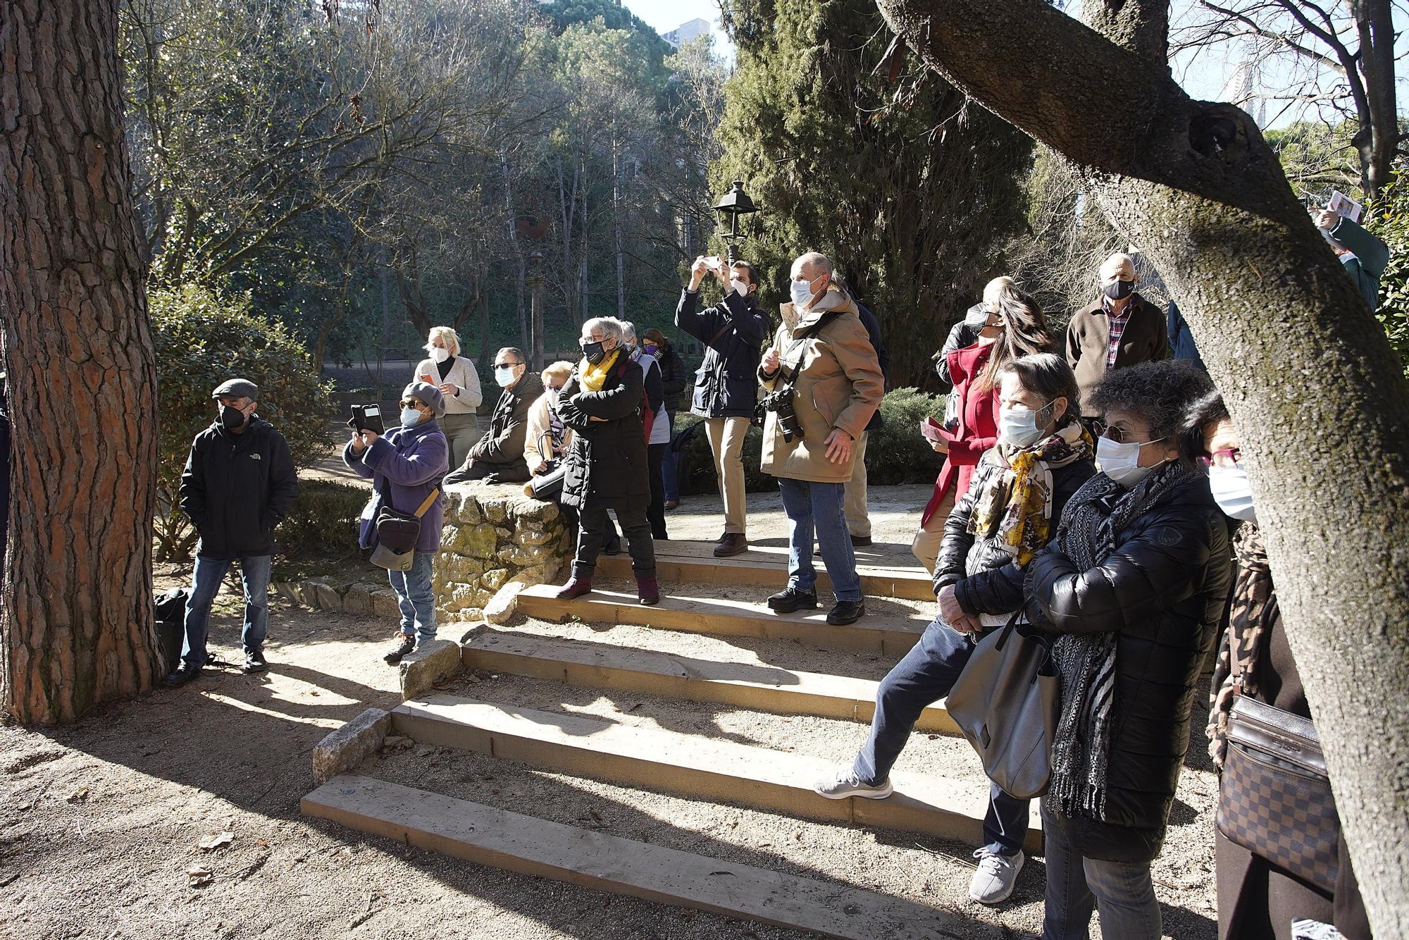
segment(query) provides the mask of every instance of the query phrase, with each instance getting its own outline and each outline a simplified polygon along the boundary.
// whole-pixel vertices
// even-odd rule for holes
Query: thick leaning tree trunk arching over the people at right
[[[1251,459],[1375,936],[1409,934],[1403,365],[1241,110],[1189,100],[1148,52],[1043,0],[879,7],[930,68],[1081,166],[1178,300]]]

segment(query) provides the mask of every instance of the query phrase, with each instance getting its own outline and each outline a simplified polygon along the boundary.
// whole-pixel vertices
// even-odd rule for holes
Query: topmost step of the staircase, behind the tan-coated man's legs
[[[661,581],[681,581],[702,585],[754,585],[781,590],[788,583],[788,550],[750,548],[741,555],[714,558],[713,544],[695,541],[655,543],[655,575]],[[913,568],[895,564],[867,564],[857,557],[861,590],[868,598],[907,598],[934,600],[930,575],[914,564]],[[627,554],[597,558],[597,574],[603,578],[631,578],[631,558]],[[817,564],[817,589],[831,590],[831,578]]]

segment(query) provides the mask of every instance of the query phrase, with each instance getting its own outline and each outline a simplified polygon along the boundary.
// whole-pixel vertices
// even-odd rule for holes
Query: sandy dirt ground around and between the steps
[[[913,492],[910,492],[913,490]],[[923,488],[874,499],[879,562],[902,558]],[[776,496],[755,495],[751,536],[776,550]],[[675,537],[713,540],[717,500],[671,514]],[[772,513],[772,514],[771,514]],[[875,564],[875,562],[874,562]],[[165,571],[165,588],[189,572]],[[741,592],[741,588],[730,588]],[[923,607],[923,605],[919,605]],[[211,621],[211,648],[238,660],[235,599]],[[0,727],[0,937],[641,937],[781,939],[772,927],[507,874],[304,819],[310,751],[368,706],[399,702],[379,654],[395,624],[275,600],[265,675],[214,669],[182,689],[108,706],[58,730]],[[889,662],[789,641],[668,633],[630,626],[506,629],[682,655],[879,678]],[[442,637],[462,630],[442,627]],[[571,688],[475,674],[455,693],[816,755],[850,760],[862,724]],[[1195,724],[1202,726],[1199,716]],[[900,769],[979,785],[962,741],[916,734]],[[551,774],[448,748],[390,748],[362,772],[686,851],[852,884],[958,910],[1005,936],[1040,929],[1043,865],[1030,860],[1010,903],[967,899],[971,846],[906,833],[813,823]],[[1215,778],[1192,748],[1164,855],[1155,864],[1165,933],[1216,934]],[[220,833],[232,840],[203,851]],[[187,870],[206,870],[190,877]],[[1099,936],[1099,930],[1093,930]]]

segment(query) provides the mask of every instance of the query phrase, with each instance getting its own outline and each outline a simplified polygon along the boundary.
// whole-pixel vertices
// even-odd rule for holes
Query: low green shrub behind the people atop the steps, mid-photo
[[[867,443],[867,482],[872,486],[896,483],[933,483],[940,474],[943,457],[920,437],[924,417],[944,414],[944,399],[917,389],[895,389],[881,400],[883,424],[871,433]],[[697,424],[700,417],[682,414],[675,420],[675,433]],[[758,469],[762,462],[764,435],[757,427],[744,438],[744,485],[751,493],[778,489],[778,481]],[[713,493],[714,459],[704,428],[690,435],[681,448],[681,493]]]

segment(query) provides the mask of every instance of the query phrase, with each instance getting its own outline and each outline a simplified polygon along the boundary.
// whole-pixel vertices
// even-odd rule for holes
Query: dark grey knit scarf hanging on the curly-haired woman
[[[1091,571],[1116,550],[1116,536],[1198,471],[1172,462],[1124,489],[1096,474],[1062,513],[1057,538],[1078,571]],[[1053,644],[1061,681],[1061,716],[1053,741],[1047,799],[1062,816],[1106,817],[1110,712],[1116,699],[1115,633],[1067,633]]]

